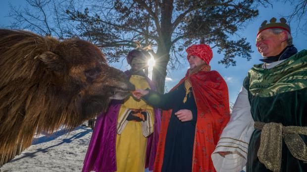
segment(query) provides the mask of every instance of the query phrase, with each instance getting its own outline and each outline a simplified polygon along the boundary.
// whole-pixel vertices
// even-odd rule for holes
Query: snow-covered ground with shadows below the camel
[[[81,172],[93,131],[80,126],[67,132],[39,135],[29,148],[0,167],[0,172]]]

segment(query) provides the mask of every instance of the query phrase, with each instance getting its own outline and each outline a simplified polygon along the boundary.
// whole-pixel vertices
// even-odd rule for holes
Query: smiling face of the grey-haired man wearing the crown
[[[284,48],[286,32],[279,34],[272,33],[269,29],[262,31],[256,38],[256,47],[262,57],[278,55]]]

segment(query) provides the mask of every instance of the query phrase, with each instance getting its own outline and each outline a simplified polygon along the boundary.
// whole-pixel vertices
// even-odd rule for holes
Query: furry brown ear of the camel
[[[38,58],[44,62],[48,69],[53,71],[63,71],[64,62],[57,54],[54,54],[50,51],[46,51],[43,54],[39,55]]]

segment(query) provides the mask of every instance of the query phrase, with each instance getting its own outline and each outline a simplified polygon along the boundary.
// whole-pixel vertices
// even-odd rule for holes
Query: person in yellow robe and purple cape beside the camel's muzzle
[[[127,55],[129,81],[138,89],[153,89],[145,75],[150,54],[132,50]],[[144,172],[153,170],[160,110],[132,95],[124,101],[112,101],[98,118],[84,160],[82,172]]]

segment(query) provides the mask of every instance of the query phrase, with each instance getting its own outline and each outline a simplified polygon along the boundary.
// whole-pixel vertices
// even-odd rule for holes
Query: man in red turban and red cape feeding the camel
[[[190,69],[169,93],[133,93],[164,110],[154,172],[214,172],[210,156],[229,121],[228,89],[210,70],[211,48],[199,44],[186,51]]]

